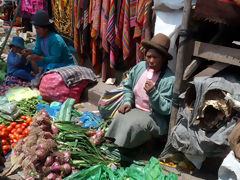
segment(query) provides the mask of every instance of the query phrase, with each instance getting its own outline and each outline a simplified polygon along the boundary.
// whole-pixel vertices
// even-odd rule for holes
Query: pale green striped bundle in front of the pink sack
[[[63,105],[58,114],[58,120],[60,121],[71,121],[72,107],[75,103],[75,99],[68,98]]]

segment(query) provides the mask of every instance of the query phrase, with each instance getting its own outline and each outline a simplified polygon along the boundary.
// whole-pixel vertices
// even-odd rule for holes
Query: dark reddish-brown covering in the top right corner
[[[195,16],[228,25],[239,25],[240,3],[233,0],[198,0]]]

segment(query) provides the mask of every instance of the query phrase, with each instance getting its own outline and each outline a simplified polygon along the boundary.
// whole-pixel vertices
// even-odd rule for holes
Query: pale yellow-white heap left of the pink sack
[[[9,101],[21,101],[23,99],[38,97],[39,95],[40,93],[37,89],[32,90],[26,87],[13,87],[6,93],[6,97]]]

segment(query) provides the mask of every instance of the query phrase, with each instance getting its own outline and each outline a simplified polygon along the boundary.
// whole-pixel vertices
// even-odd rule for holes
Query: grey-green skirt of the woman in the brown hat
[[[107,138],[115,139],[119,147],[134,148],[160,136],[160,127],[150,112],[131,109],[126,114],[118,113],[106,133]]]

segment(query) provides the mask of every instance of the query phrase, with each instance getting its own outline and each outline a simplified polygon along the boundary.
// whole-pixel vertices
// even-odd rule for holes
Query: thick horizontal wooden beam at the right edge
[[[224,47],[196,41],[193,55],[211,61],[240,66],[240,49],[236,48]]]

